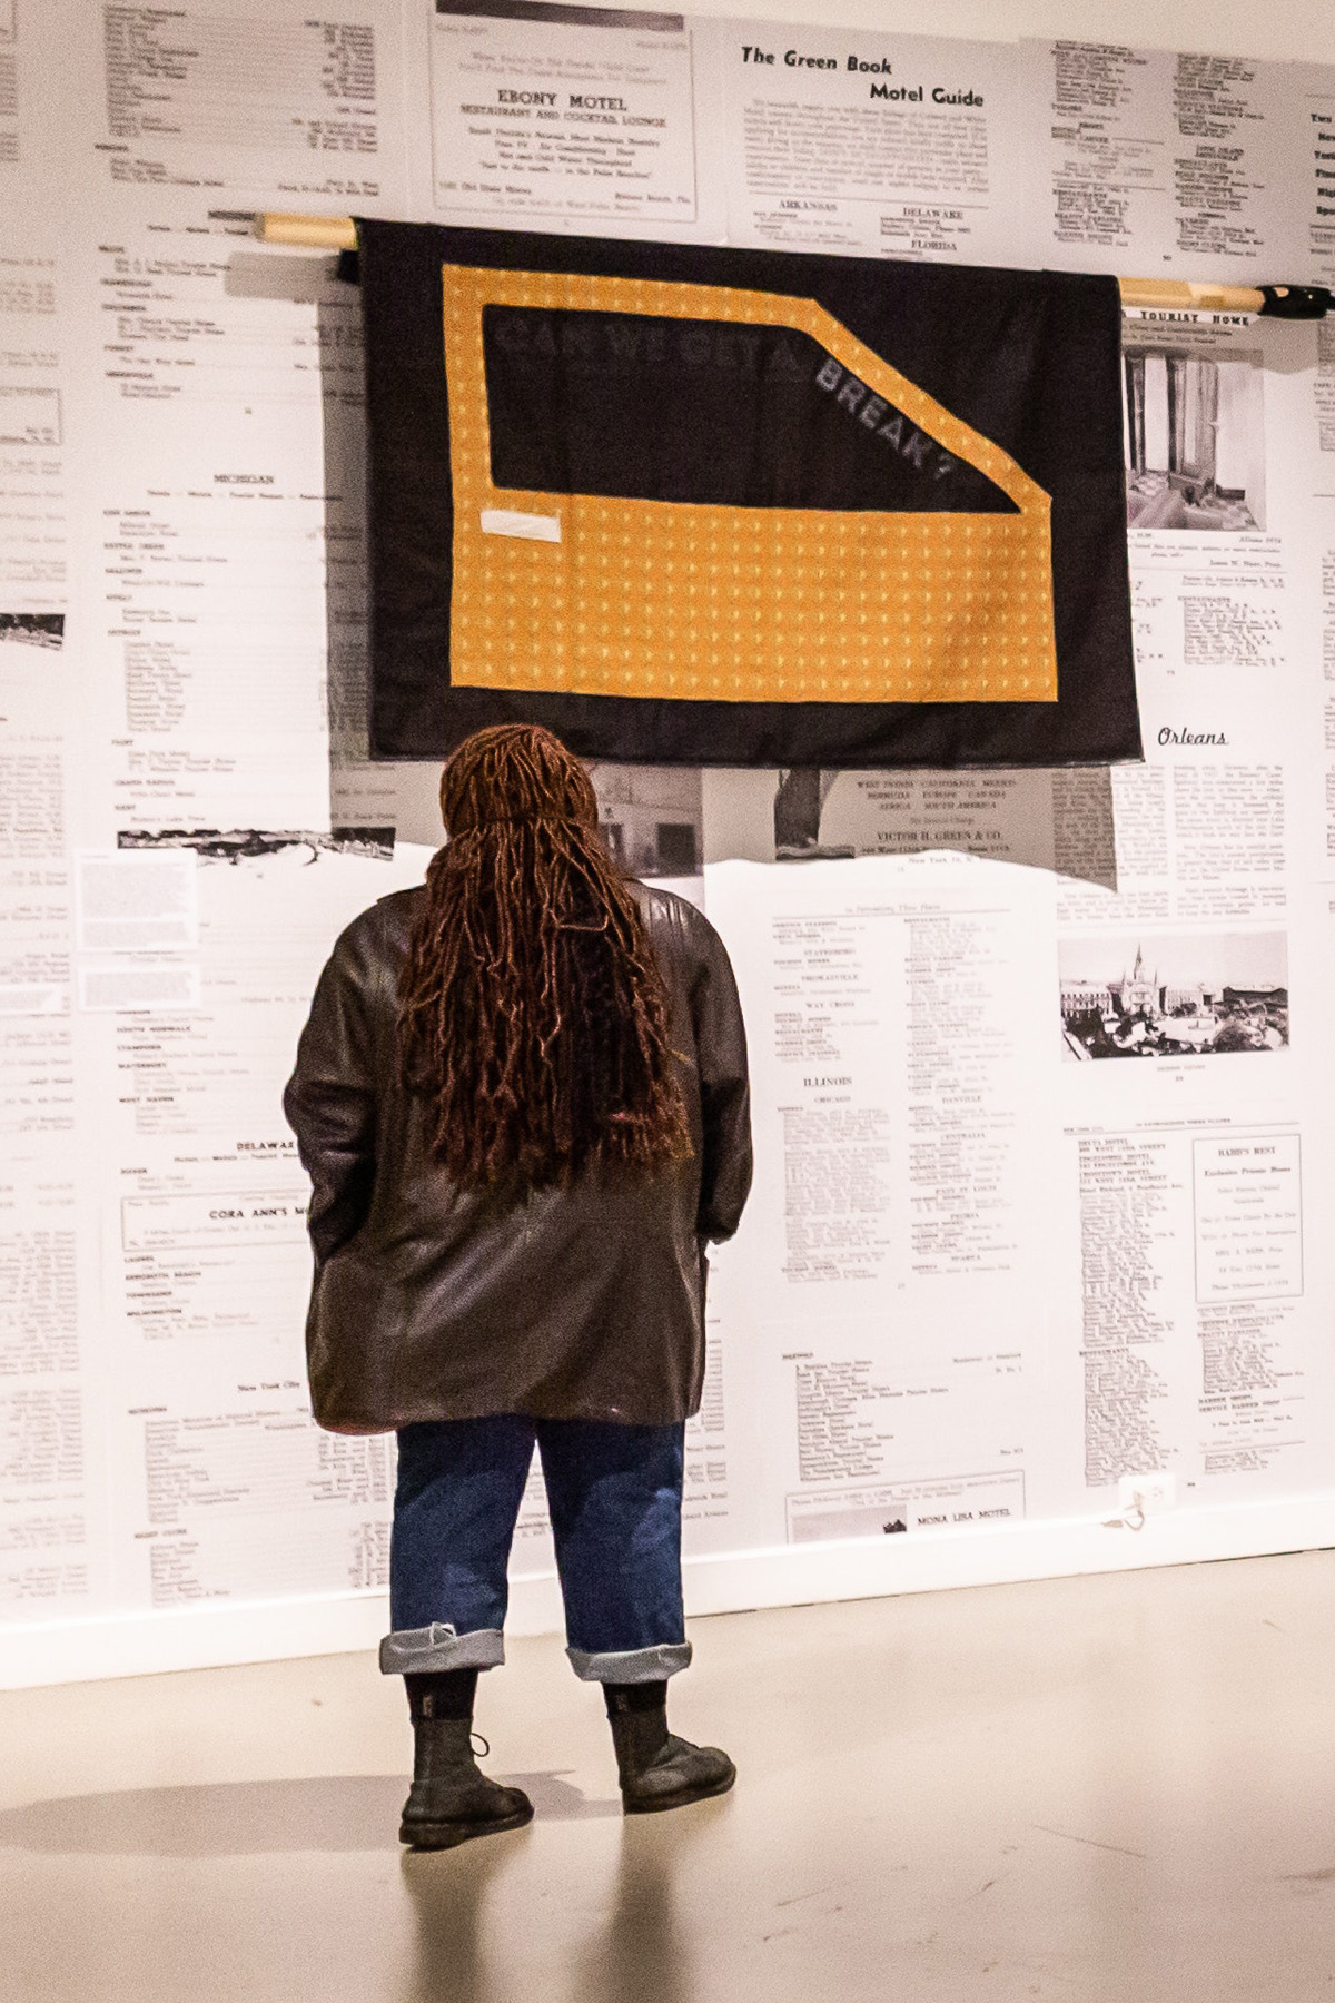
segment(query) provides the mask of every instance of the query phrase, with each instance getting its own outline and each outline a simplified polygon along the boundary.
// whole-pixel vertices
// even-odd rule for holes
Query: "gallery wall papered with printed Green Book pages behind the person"
[[[0,0],[0,1683],[384,1626],[278,1094],[436,771],[366,757],[356,292],[250,214],[1335,280],[1325,6],[821,14]],[[640,92],[610,200],[600,130],[488,180],[538,76]],[[1335,339],[1125,345],[1145,765],[594,773],[753,1044],[697,1612],[1335,1538]]]

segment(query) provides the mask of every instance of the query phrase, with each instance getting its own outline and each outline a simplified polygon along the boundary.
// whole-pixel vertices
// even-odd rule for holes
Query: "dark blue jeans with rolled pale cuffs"
[[[685,1426],[500,1414],[398,1432],[386,1675],[504,1662],[506,1562],[534,1442],[574,1675],[656,1683],[691,1660],[681,1604]]]

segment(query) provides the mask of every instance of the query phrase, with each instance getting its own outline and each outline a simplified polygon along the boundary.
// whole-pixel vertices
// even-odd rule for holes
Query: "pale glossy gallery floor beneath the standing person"
[[[737,1793],[622,1823],[556,1640],[482,1683],[536,1823],[398,1853],[368,1656],[0,1697],[0,1995],[1335,2003],[1335,1554],[695,1626]]]

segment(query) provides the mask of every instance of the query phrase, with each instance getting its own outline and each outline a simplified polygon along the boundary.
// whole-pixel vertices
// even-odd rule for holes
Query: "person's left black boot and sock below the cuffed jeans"
[[[518,1787],[498,1787],[472,1757],[476,1671],[404,1677],[412,1713],[412,1791],[398,1841],[414,1851],[452,1851],[472,1837],[522,1829],[532,1803]]]

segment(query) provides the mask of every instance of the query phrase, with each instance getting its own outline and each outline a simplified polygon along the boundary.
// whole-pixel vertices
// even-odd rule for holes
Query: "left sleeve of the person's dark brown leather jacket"
[[[370,1212],[376,1074],[366,975],[364,943],[358,925],[350,925],[320,973],[282,1096],[312,1182],[306,1228],[316,1264],[344,1246]]]

